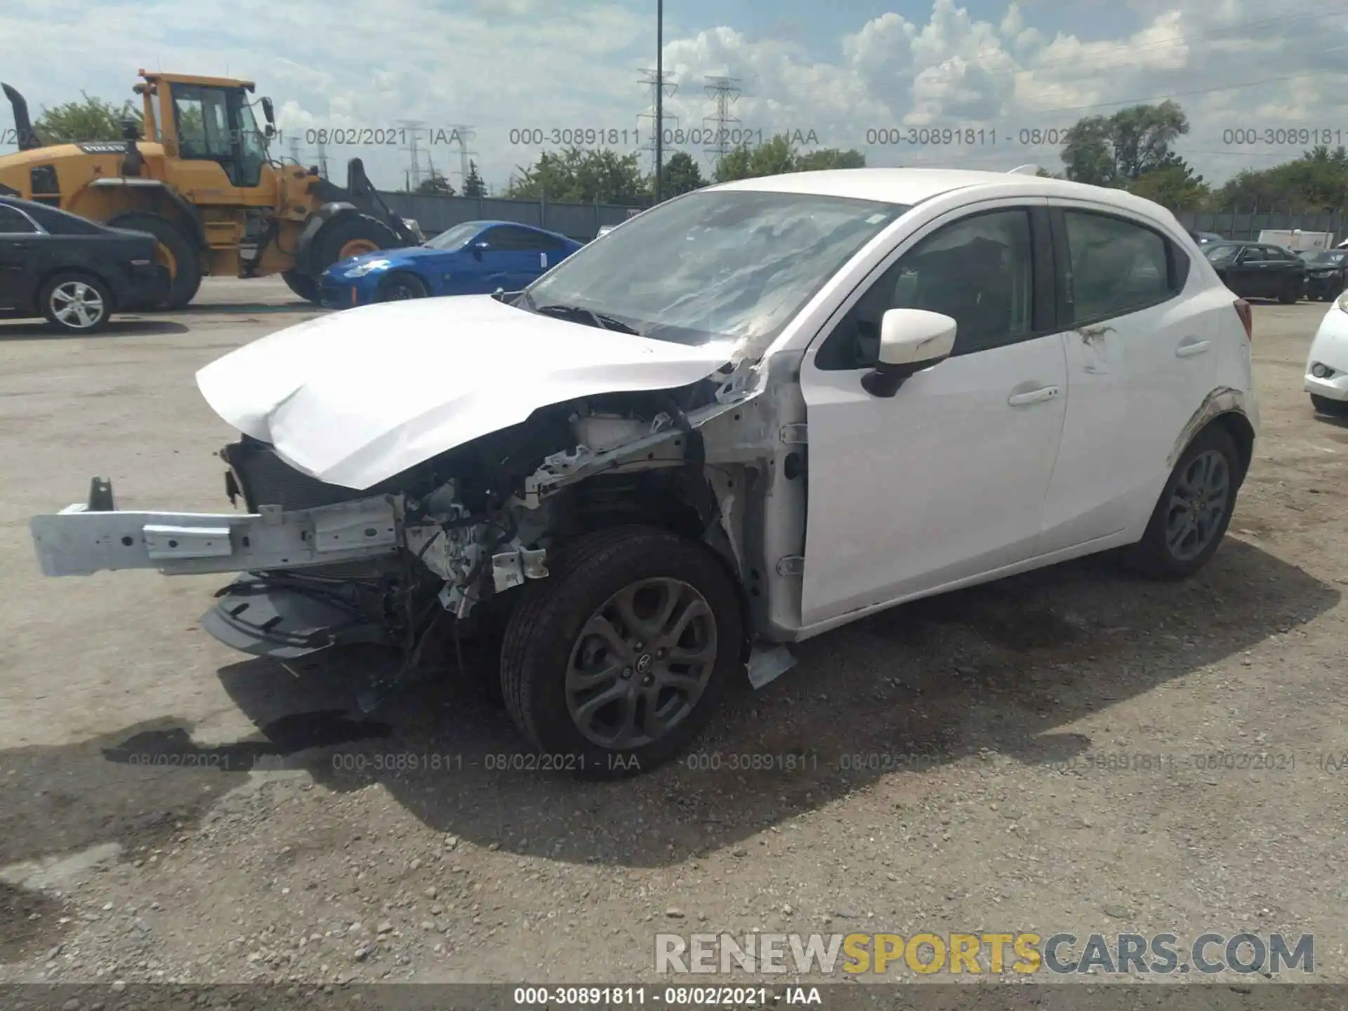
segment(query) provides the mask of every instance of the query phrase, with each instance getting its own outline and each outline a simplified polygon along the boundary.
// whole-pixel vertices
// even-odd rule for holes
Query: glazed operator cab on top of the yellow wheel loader
[[[137,90],[143,88],[147,109],[158,105],[156,119],[147,116],[146,121],[156,123],[155,139],[166,154],[177,155],[181,162],[214,162],[235,189],[262,185],[272,127],[268,123],[264,132],[257,125],[249,101],[252,82],[147,74]],[[270,111],[270,102],[264,108]]]

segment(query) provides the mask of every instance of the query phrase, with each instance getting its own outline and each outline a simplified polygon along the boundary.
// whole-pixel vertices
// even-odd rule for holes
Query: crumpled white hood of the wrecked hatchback
[[[213,361],[197,386],[291,466],[363,491],[539,407],[687,386],[732,355],[460,295],[309,319]]]

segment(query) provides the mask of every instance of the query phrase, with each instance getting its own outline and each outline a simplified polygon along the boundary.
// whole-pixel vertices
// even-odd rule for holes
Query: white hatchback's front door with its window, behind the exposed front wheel
[[[826,623],[1037,554],[1066,400],[1043,201],[938,218],[806,352],[802,621]],[[892,398],[861,387],[888,309],[956,319],[952,357]]]

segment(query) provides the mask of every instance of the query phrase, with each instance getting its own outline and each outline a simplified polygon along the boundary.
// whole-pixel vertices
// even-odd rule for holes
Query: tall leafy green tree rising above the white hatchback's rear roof
[[[1188,132],[1189,119],[1177,102],[1134,105],[1078,120],[1068,129],[1061,156],[1069,179],[1123,187],[1148,171],[1174,168],[1170,148]]]

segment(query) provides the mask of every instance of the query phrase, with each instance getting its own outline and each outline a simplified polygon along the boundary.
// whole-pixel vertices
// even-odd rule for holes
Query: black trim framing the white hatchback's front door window
[[[931,236],[938,232],[944,232],[946,228],[962,224],[975,217],[983,217],[985,214],[1000,214],[1008,210],[1019,210],[1029,217],[1030,224],[1030,259],[1033,271],[1033,305],[1031,305],[1031,321],[1030,332],[1023,334],[1016,334],[1015,337],[1002,341],[1000,344],[989,344],[981,348],[969,348],[967,350],[954,350],[950,357],[964,357],[967,355],[977,355],[984,350],[996,350],[999,348],[1010,348],[1015,344],[1024,344],[1026,341],[1039,340],[1041,337],[1049,337],[1061,330],[1057,324],[1057,314],[1054,311],[1054,305],[1057,302],[1057,271],[1054,270],[1054,248],[1053,237],[1050,233],[1049,222],[1049,208],[1043,197],[1016,197],[1011,198],[1015,202],[1007,202],[1006,197],[995,198],[993,206],[983,206],[980,204],[991,204],[993,201],[980,201],[980,204],[971,204],[961,208],[953,208],[946,216],[937,218],[937,224],[926,231],[918,232],[915,236],[913,232],[906,233],[895,249],[878,263],[869,274],[867,274],[838,303],[838,307],[833,310],[824,326],[810,341],[810,350],[814,352],[814,367],[821,372],[860,372],[865,373],[874,369],[874,365],[855,365],[851,368],[825,368],[818,364],[820,353],[824,350],[824,345],[837,333],[837,329],[847,319],[848,313],[856,307],[872,286],[878,284],[880,279],[890,272],[899,260],[907,256],[913,249],[925,243]],[[914,205],[917,206],[917,205]],[[911,210],[911,209],[910,209]],[[902,248],[902,252],[898,249]],[[956,342],[958,342],[958,334],[956,334]],[[807,352],[809,353],[809,352]]]

